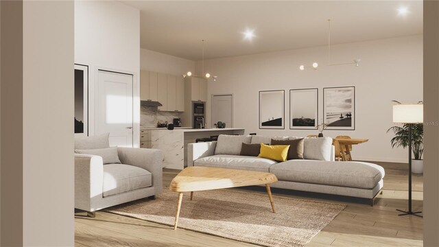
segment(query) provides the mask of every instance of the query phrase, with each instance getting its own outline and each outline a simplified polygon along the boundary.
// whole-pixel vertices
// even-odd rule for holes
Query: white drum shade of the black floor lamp
[[[423,121],[423,104],[398,104],[393,106],[393,122],[395,124],[419,124]]]

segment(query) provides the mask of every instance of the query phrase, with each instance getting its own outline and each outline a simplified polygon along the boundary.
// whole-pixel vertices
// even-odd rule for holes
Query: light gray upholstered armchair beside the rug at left
[[[117,148],[117,154],[121,164],[105,165],[101,156],[75,154],[76,209],[94,217],[99,209],[161,193],[161,150]]]

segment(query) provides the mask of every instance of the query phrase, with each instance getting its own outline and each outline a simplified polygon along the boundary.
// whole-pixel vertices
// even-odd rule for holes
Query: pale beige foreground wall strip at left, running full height
[[[23,1],[23,246],[74,245],[73,11]]]

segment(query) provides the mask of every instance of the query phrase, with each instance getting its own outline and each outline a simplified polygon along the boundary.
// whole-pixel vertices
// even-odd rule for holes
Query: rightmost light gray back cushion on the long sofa
[[[331,161],[331,137],[307,137],[303,145],[303,158]]]

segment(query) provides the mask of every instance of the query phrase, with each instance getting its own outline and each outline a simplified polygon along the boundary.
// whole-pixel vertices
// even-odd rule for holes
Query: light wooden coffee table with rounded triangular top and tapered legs
[[[178,192],[174,230],[177,229],[183,192],[191,192],[192,200],[193,191],[225,189],[250,185],[265,185],[267,188],[268,198],[270,199],[270,204],[272,205],[272,211],[275,213],[272,192],[269,184],[276,181],[276,176],[268,172],[253,172],[215,167],[187,167],[177,174],[177,176],[171,181],[171,185],[169,185],[170,191]]]

